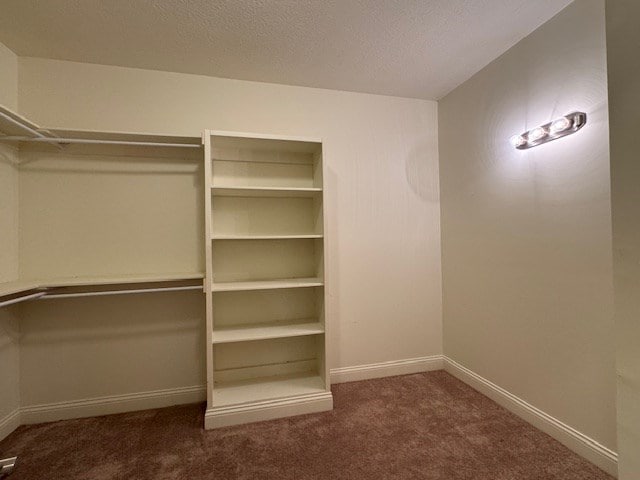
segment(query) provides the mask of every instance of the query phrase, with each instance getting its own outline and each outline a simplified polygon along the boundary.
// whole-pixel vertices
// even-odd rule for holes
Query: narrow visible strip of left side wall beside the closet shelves
[[[18,62],[0,43],[0,104],[18,103]],[[17,152],[0,145],[0,283],[18,278],[18,170]],[[15,307],[0,308],[0,438],[3,419],[20,406],[19,323]]]

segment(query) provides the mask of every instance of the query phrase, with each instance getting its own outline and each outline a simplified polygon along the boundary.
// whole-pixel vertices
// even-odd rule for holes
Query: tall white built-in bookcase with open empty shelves
[[[330,410],[322,144],[206,131],[205,427]]]

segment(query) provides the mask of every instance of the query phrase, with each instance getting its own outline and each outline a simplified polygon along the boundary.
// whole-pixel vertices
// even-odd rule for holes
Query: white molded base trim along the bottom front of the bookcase
[[[204,415],[204,428],[208,430],[294,415],[325,412],[332,409],[333,395],[331,392],[300,395],[293,398],[276,398],[209,409]]]

